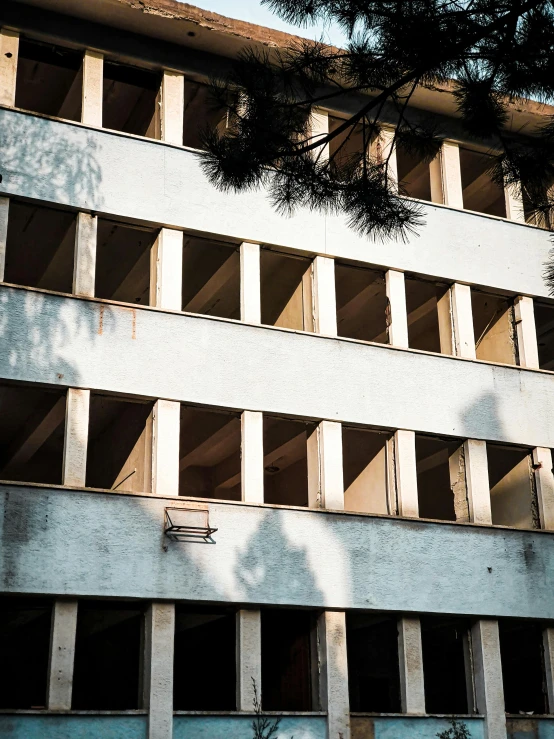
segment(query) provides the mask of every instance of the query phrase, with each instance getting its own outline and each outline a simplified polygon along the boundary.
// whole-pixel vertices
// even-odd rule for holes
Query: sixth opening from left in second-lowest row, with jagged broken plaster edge
[[[469,521],[463,444],[416,434],[419,515],[440,521]]]

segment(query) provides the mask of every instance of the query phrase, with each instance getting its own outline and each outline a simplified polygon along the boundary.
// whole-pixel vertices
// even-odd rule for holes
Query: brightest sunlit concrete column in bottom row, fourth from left
[[[318,618],[319,700],[327,712],[327,738],[350,739],[350,702],[344,611],[324,611]]]

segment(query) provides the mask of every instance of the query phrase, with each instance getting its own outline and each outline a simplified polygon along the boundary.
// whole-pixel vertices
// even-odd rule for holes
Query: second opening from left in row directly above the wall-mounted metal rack
[[[87,487],[152,492],[153,406],[91,393]]]

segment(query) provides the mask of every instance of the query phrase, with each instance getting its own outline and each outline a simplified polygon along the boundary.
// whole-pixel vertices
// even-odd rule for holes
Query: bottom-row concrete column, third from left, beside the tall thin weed
[[[260,611],[237,611],[237,710],[254,710],[254,683],[262,700],[262,621]]]

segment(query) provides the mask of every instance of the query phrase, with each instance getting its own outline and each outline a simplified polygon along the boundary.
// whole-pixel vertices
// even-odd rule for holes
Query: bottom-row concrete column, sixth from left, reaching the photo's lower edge
[[[471,641],[475,700],[478,713],[485,715],[486,739],[506,739],[498,622],[477,621],[471,629]]]

